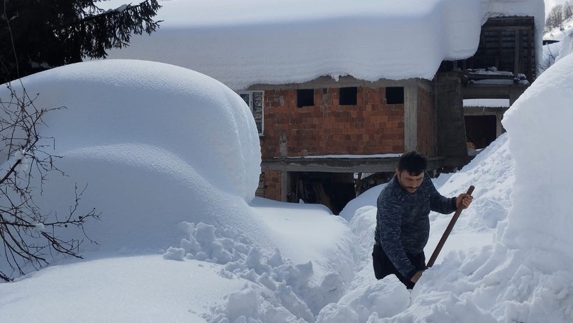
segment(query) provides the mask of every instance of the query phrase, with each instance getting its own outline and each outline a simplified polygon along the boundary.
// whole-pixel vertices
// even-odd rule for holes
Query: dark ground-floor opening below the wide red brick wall
[[[289,202],[320,203],[335,215],[356,197],[354,173],[292,172],[289,180]]]

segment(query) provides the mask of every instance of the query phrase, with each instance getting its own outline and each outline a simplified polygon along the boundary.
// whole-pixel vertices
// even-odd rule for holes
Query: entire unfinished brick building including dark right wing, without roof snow
[[[238,92],[253,111],[261,139],[257,195],[323,203],[338,214],[361,190],[386,182],[403,152],[428,156],[429,171],[463,166],[471,158],[466,120],[472,129],[487,128],[476,124],[463,99],[515,101],[529,84],[517,76],[536,76],[533,31],[533,17],[491,18],[476,55],[444,62],[431,81],[323,76]],[[468,69],[476,62],[512,71],[483,75]]]

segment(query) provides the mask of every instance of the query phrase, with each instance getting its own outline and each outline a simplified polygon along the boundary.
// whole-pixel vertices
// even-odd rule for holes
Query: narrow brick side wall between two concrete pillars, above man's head
[[[436,155],[436,113],[433,95],[425,89],[418,89],[418,152],[427,157]]]

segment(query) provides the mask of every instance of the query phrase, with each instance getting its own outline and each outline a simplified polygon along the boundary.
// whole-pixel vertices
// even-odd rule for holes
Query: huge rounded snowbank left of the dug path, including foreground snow
[[[36,106],[66,106],[46,117],[50,127],[40,133],[56,138],[53,153],[63,156],[57,166],[69,176],[50,176],[36,203],[45,213],[65,211],[75,184],[87,183],[80,206],[103,215],[85,226],[100,243],[82,245],[90,261],[49,259],[60,266],[0,285],[0,311],[10,322],[85,315],[98,322],[313,322],[346,292],[355,271],[347,222],[324,206],[295,204],[293,213],[286,203],[245,201],[258,182],[259,143],[250,111],[229,88],[176,66],[124,60],[64,66],[22,82],[40,93]],[[213,131],[214,122],[224,129]],[[228,180],[227,171],[244,182]],[[155,255],[126,257],[142,253]],[[90,279],[51,283],[81,280],[89,268],[97,271]],[[82,305],[57,310],[68,305],[53,291],[74,286],[82,289]],[[189,297],[187,288],[195,291]],[[108,292],[113,296],[102,296]],[[158,295],[173,301],[156,301]],[[91,297],[114,303],[89,306]],[[24,300],[37,301],[38,311],[20,315]]]

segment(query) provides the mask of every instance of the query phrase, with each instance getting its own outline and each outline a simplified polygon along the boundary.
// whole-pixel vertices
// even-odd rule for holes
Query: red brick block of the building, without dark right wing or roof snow
[[[324,203],[338,213],[356,196],[362,173],[393,172],[398,155],[407,150],[430,157],[432,169],[442,165],[427,80],[321,77],[296,85],[253,85],[240,94],[247,102],[263,98],[264,122],[257,123],[260,196]]]

